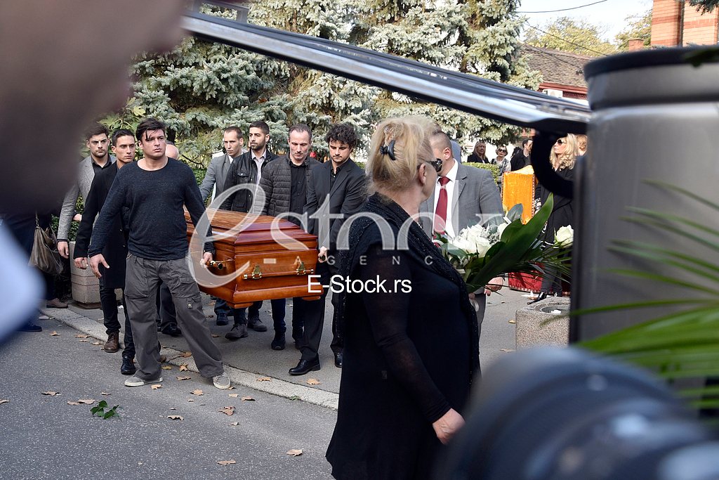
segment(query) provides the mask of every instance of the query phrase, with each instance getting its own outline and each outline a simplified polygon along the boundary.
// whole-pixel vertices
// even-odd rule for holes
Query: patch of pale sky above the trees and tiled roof
[[[521,0],[519,12],[546,12],[547,10],[570,9],[574,6],[593,4],[599,0]],[[651,9],[652,0],[605,0],[595,5],[565,12],[526,13],[529,24],[536,27],[546,24],[557,17],[585,17],[594,24],[603,24],[609,27],[606,40],[614,40],[626,25],[624,19],[630,15],[643,14]]]

